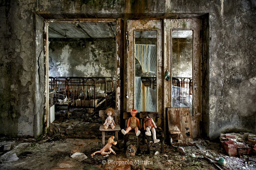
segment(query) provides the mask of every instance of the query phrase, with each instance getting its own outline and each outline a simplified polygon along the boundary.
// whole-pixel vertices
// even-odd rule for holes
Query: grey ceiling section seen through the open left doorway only
[[[49,38],[114,38],[116,23],[49,23]]]

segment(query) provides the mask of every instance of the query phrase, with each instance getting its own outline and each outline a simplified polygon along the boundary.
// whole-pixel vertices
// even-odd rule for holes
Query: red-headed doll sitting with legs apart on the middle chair
[[[137,110],[131,109],[132,117],[128,119],[127,128],[125,130],[124,129],[121,130],[124,135],[126,135],[126,133],[128,133],[132,129],[135,130],[136,136],[140,135],[140,130],[139,130],[140,120],[136,117],[136,114],[137,114]]]

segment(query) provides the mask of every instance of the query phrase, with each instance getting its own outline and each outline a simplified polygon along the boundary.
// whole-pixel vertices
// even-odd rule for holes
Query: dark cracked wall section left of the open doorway
[[[35,1],[0,3],[0,134],[34,136]]]

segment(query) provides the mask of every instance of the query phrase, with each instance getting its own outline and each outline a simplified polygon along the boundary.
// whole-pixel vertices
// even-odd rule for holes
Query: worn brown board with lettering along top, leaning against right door
[[[191,141],[193,137],[190,108],[168,108],[168,127],[170,134],[178,134],[177,139]]]

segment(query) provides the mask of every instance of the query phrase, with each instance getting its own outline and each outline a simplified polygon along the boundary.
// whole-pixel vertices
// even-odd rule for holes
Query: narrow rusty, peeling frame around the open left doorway
[[[49,127],[49,47],[48,47],[48,27],[50,22],[56,23],[113,23],[116,22],[116,109],[121,109],[121,89],[120,89],[120,60],[122,59],[122,19],[45,19],[44,20],[44,68],[45,68],[45,132]],[[122,79],[122,77],[121,77]]]

